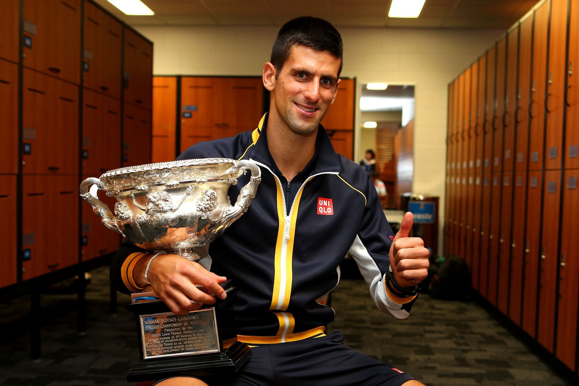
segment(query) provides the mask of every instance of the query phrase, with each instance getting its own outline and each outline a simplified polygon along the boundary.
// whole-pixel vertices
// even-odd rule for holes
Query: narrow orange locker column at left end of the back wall
[[[173,161],[177,156],[175,135],[177,127],[177,78],[153,77],[153,139],[152,161]]]

